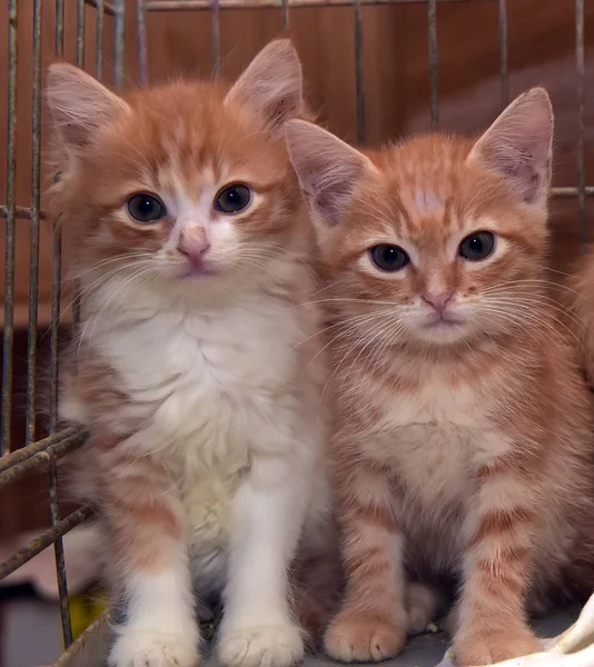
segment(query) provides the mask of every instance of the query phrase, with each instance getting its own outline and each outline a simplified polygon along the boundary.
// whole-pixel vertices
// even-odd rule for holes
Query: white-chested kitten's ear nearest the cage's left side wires
[[[50,66],[46,98],[53,125],[67,148],[80,150],[93,133],[128,104],[87,72],[58,62]]]

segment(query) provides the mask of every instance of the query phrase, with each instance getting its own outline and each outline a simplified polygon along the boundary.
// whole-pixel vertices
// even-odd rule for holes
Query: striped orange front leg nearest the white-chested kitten
[[[384,660],[406,639],[404,540],[392,489],[383,471],[357,460],[340,475],[338,491],[347,591],[325,648],[345,663]]]

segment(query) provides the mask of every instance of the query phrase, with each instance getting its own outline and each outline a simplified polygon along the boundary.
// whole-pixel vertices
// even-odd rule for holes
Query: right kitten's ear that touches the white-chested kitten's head
[[[290,120],[285,131],[290,161],[314,220],[334,227],[358,182],[376,168],[358,150],[310,122]]]

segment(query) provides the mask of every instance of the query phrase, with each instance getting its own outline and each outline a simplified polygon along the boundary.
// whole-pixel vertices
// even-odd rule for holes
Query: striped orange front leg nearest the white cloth
[[[466,526],[464,589],[454,637],[456,661],[492,665],[537,653],[527,624],[535,489],[514,467],[483,468]]]

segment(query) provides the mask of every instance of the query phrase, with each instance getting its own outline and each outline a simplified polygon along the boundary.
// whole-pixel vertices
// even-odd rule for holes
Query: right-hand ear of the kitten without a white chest
[[[553,108],[544,88],[521,94],[468,156],[496,171],[526,203],[544,206],[551,185]]]

